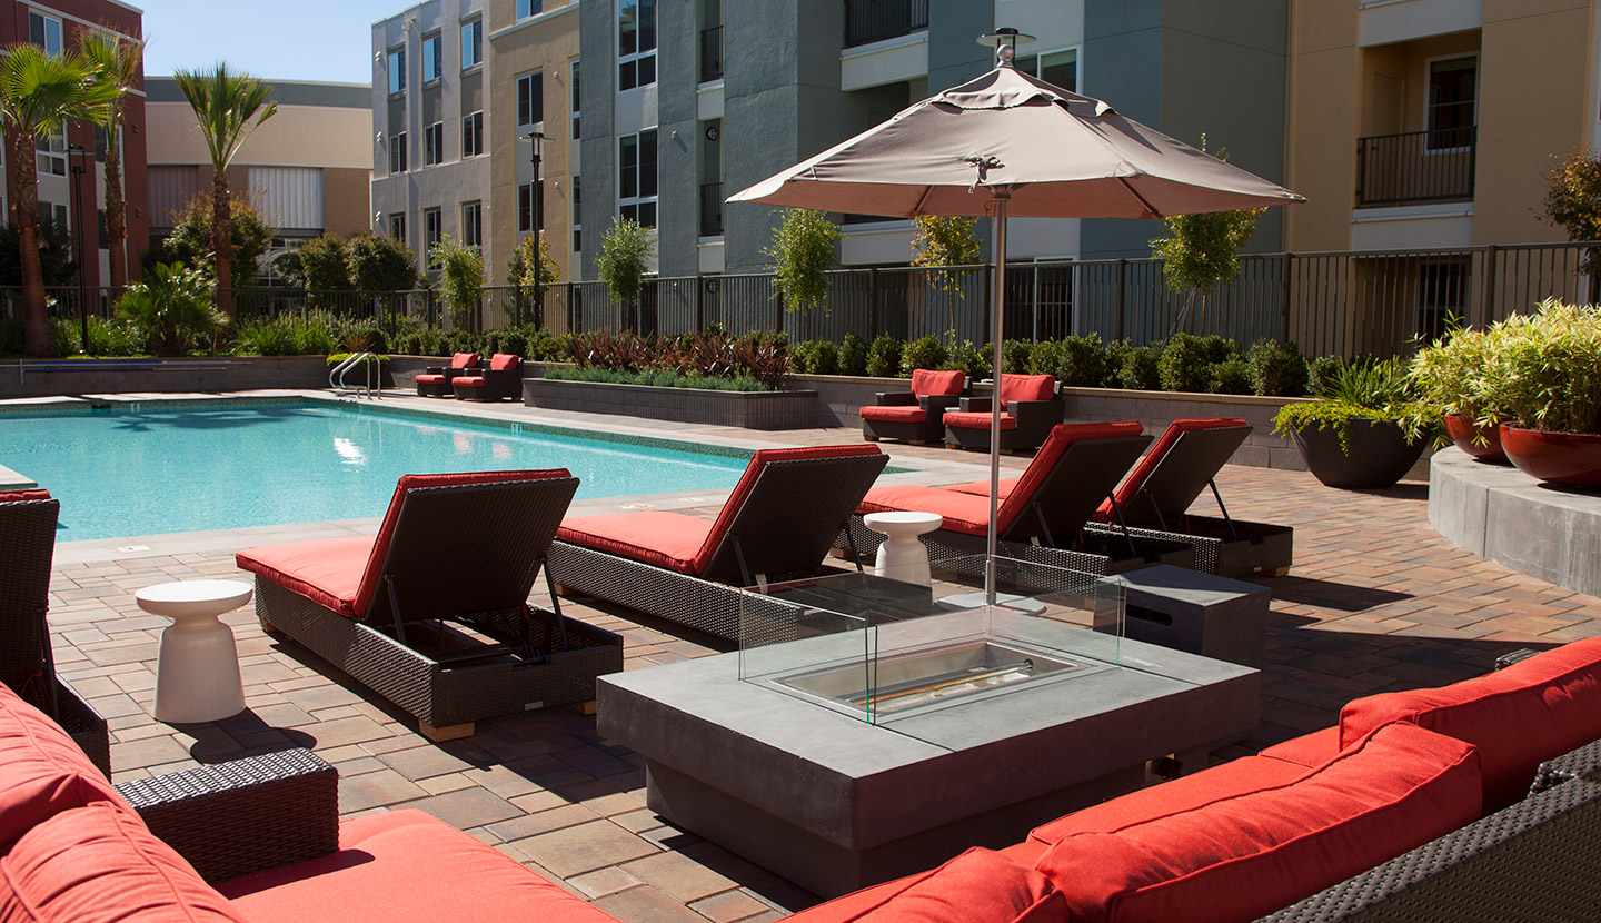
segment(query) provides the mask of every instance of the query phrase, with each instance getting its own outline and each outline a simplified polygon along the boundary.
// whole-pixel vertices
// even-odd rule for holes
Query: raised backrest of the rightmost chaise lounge
[[[1250,436],[1239,418],[1175,420],[1113,495],[1129,524],[1177,524],[1217,473]],[[1111,521],[1111,503],[1097,519]]]

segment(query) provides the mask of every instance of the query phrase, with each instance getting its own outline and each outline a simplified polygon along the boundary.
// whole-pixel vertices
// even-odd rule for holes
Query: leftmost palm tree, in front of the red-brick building
[[[21,43],[0,58],[0,123],[11,139],[18,184],[13,210],[22,263],[22,328],[29,356],[54,356],[56,337],[45,312],[45,279],[38,269],[38,165],[34,146],[67,122],[104,123],[117,90],[99,80],[80,54],[46,54]]]

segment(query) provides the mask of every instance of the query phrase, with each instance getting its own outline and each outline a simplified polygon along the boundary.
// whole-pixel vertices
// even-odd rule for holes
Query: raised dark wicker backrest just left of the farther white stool
[[[757,452],[706,537],[700,575],[748,586],[817,567],[887,463],[877,445]]]

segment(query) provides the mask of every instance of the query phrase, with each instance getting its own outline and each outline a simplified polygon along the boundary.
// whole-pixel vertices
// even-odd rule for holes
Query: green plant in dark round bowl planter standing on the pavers
[[[1318,401],[1287,404],[1273,433],[1289,436],[1329,487],[1390,487],[1439,431],[1439,412],[1418,401],[1396,359],[1345,364]]]

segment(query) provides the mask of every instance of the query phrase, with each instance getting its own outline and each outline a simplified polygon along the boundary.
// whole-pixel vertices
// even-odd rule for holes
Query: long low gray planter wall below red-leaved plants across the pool
[[[524,378],[522,402],[543,410],[620,413],[746,429],[812,429],[818,425],[817,391],[709,391]]]

